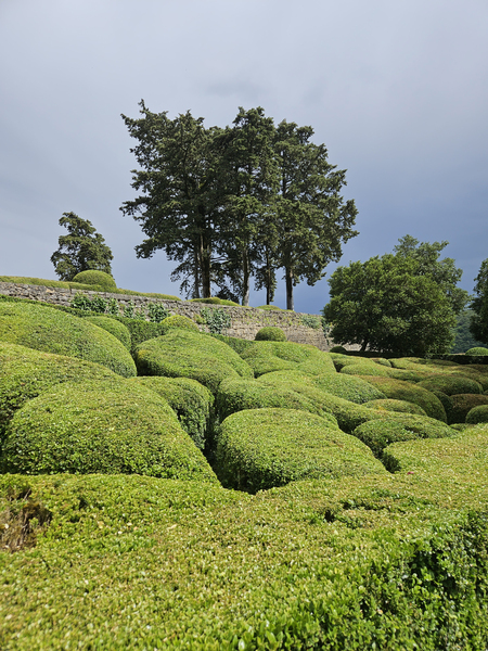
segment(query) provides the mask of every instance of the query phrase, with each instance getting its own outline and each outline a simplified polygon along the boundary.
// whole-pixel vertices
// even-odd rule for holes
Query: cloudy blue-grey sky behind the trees
[[[120,114],[141,99],[208,127],[239,106],[310,125],[359,210],[339,265],[406,234],[448,241],[472,292],[488,258],[486,0],[0,0],[0,99],[1,276],[55,279],[74,212],[112,248],[117,286],[179,294],[176,263],[138,259],[144,234],[119,209],[137,166]],[[322,309],[336,266],[295,288],[295,310]]]

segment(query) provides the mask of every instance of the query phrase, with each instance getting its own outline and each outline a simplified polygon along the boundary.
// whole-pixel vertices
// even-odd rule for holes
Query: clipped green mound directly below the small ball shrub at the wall
[[[335,372],[331,356],[308,344],[254,342],[241,357],[256,376],[288,369],[305,371],[311,375]]]

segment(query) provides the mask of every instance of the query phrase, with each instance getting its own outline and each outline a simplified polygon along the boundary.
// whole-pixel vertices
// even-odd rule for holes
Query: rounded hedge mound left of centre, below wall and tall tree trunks
[[[134,357],[141,375],[191,378],[214,394],[224,378],[253,378],[252,369],[230,346],[181,328],[143,342]]]

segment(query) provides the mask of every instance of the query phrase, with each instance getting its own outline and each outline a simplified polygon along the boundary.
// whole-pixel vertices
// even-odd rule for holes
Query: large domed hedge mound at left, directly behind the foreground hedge
[[[2,472],[145,474],[215,481],[166,400],[129,382],[65,382],[7,427]]]

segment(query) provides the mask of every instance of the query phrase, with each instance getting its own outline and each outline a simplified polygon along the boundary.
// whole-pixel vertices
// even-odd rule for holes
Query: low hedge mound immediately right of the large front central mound
[[[352,432],[371,448],[376,457],[381,457],[385,447],[397,441],[412,438],[447,438],[457,433],[433,418],[409,413],[390,413],[385,420],[363,423]]]

